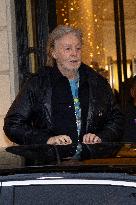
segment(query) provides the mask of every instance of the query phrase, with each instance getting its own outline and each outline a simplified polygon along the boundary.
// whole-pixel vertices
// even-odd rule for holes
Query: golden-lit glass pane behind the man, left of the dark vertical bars
[[[118,90],[113,1],[57,0],[56,7],[58,24],[79,27],[83,32],[83,62]]]

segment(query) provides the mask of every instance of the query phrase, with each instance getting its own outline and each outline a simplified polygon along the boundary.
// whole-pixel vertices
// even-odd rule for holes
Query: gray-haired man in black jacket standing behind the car
[[[122,115],[111,88],[81,62],[81,49],[78,29],[60,25],[52,31],[47,66],[27,81],[5,117],[10,140],[52,145],[120,140]]]

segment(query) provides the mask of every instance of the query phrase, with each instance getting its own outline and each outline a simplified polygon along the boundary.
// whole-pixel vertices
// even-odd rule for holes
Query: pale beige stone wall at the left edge
[[[3,132],[4,116],[18,92],[14,0],[0,1],[0,147],[12,144]]]

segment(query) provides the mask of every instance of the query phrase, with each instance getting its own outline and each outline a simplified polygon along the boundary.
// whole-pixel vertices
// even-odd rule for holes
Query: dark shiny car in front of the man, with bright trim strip
[[[136,204],[136,145],[31,145],[0,149],[2,205]]]

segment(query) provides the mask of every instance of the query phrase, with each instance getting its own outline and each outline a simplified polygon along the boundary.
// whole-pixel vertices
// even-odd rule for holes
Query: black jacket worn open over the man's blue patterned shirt
[[[79,76],[79,98],[83,121],[80,141],[85,133],[95,133],[104,142],[120,141],[123,118],[107,80],[85,64],[81,64]],[[57,86],[60,86],[63,93],[59,92],[60,89],[55,91],[58,92],[56,96],[61,95],[60,101],[65,97],[71,99],[69,101],[71,106],[68,105],[71,111],[66,110],[67,116],[62,116],[60,120],[56,119],[58,129],[54,128],[52,116],[52,108],[57,106],[55,100],[58,99],[56,97],[52,102],[52,95]],[[44,68],[31,76],[5,117],[5,134],[17,144],[42,144],[46,143],[49,137],[58,134],[72,135],[70,137],[75,142],[76,123],[74,117],[71,117],[74,116],[74,109],[69,87],[68,79],[62,76],[56,67]],[[68,90],[67,94],[65,89]],[[75,125],[72,126],[73,124]],[[65,129],[61,129],[65,126],[67,126],[66,133]]]

